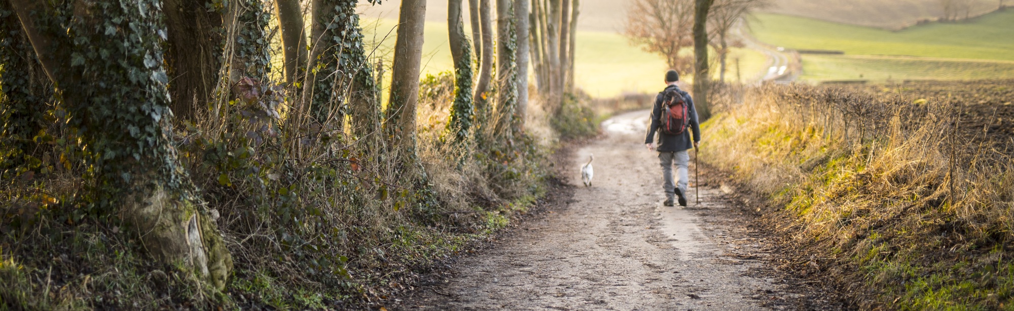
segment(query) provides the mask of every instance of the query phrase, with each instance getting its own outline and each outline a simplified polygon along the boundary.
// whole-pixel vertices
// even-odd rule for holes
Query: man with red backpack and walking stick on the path
[[[698,124],[697,110],[691,95],[676,86],[679,74],[674,70],[665,73],[665,90],[655,97],[655,107],[651,109],[651,126],[644,143],[649,150],[656,149],[655,132],[658,132],[658,160],[662,166],[665,182],[665,206],[673,206],[673,197],[679,206],[686,206],[687,166],[691,156],[687,150],[697,147],[701,141],[701,126]],[[672,91],[672,92],[670,92]],[[694,139],[691,139],[691,132]],[[672,183],[672,165],[675,163],[679,181]]]

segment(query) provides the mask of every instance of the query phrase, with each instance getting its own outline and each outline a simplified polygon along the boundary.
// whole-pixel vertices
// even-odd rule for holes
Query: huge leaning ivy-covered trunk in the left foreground
[[[171,143],[161,2],[10,3],[85,144],[95,212],[128,224],[162,263],[224,288],[231,256]]]

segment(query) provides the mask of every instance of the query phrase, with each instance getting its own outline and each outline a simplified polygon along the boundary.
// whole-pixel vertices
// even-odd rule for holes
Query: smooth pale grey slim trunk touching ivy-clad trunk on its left
[[[529,53],[529,0],[516,0],[514,4],[514,20],[517,33],[517,108],[514,113],[514,130],[520,133],[524,130],[525,116],[528,114],[528,56]]]

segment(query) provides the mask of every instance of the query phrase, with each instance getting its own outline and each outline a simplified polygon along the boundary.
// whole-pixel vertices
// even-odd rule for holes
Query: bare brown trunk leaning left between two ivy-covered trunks
[[[282,32],[285,83],[293,86],[306,70],[306,30],[299,0],[275,0],[278,25]]]

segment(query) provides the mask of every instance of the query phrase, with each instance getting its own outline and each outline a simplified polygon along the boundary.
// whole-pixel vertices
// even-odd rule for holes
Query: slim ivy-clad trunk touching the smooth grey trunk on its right
[[[512,0],[497,0],[497,133],[502,141],[511,131],[517,107],[517,34],[514,32]]]

